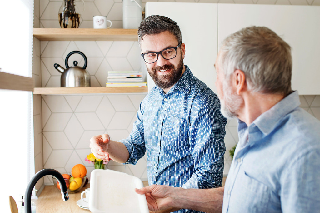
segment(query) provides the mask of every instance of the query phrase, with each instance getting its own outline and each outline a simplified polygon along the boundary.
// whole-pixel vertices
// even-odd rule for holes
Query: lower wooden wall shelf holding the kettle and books
[[[34,95],[88,94],[88,93],[140,93],[148,87],[35,87]]]

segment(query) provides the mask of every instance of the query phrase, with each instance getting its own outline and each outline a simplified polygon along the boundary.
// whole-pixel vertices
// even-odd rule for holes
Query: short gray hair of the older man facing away
[[[249,90],[283,95],[292,92],[291,48],[269,28],[243,28],[229,35],[220,51],[219,63],[226,77],[239,69]]]

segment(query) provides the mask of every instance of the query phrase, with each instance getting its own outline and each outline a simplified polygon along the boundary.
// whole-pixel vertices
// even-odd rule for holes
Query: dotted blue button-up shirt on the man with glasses
[[[226,123],[217,95],[186,66],[167,94],[158,86],[151,89],[130,136],[120,142],[129,151],[127,163],[136,164],[147,151],[149,185],[219,187]]]

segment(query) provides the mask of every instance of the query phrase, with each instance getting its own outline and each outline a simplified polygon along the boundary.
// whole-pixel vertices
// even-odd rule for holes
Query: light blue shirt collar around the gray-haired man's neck
[[[261,114],[255,121],[255,124],[264,135],[270,134],[276,128],[280,119],[299,107],[300,99],[298,91],[294,91],[284,99],[276,103],[268,111]]]

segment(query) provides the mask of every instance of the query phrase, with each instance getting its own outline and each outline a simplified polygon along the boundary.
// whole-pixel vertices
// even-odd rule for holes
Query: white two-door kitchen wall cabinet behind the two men
[[[178,23],[186,43],[185,65],[214,92],[213,64],[221,42],[256,25],[272,29],[292,47],[292,89],[320,94],[320,6],[147,2],[145,11]],[[148,89],[153,86],[148,76]]]

